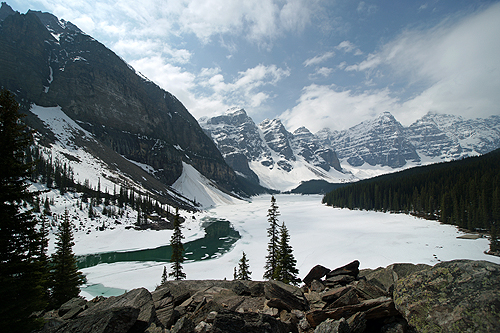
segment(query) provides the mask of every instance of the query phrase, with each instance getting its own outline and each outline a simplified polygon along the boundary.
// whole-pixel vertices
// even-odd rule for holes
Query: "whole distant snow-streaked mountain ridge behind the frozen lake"
[[[278,190],[312,179],[358,180],[500,147],[500,116],[464,119],[429,112],[405,127],[384,112],[347,130],[315,134],[305,127],[290,133],[279,119],[256,125],[242,109],[199,121],[234,170]],[[309,172],[298,171],[303,167]]]

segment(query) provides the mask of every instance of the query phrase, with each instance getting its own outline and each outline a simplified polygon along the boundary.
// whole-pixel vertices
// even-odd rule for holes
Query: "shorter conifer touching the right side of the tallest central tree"
[[[293,256],[292,247],[289,244],[290,235],[285,226],[285,222],[280,227],[280,241],[278,248],[277,265],[274,272],[275,279],[287,284],[297,285],[300,279],[297,277],[299,270],[297,269],[297,260]]]

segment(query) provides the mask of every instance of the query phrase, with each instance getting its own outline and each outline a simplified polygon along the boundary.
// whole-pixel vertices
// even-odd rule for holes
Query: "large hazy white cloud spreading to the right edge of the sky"
[[[423,87],[394,115],[410,123],[428,111],[466,118],[500,113],[500,4],[432,29],[407,30],[363,61],[345,66],[376,83],[383,71]],[[399,117],[398,117],[399,115]]]

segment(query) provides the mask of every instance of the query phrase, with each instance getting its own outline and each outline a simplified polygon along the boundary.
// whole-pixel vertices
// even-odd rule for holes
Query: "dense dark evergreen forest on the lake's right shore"
[[[323,203],[412,214],[469,230],[500,224],[500,149],[479,157],[417,167],[336,189]]]

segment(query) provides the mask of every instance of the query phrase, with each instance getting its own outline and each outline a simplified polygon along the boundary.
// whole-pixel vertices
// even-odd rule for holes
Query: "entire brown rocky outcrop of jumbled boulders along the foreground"
[[[73,299],[42,332],[496,332],[500,265],[457,260],[317,265],[302,288],[277,281],[168,281],[155,291]]]

